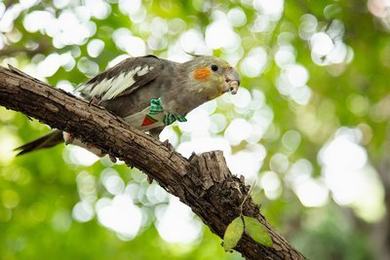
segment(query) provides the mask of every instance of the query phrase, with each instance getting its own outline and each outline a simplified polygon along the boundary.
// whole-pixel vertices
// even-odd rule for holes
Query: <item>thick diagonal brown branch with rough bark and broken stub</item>
[[[193,155],[189,160],[151,136],[130,128],[103,108],[54,89],[15,70],[0,68],[0,105],[37,118],[53,128],[71,132],[108,154],[144,171],[164,189],[191,207],[203,222],[223,237],[227,225],[240,214],[249,188],[233,176],[222,152]],[[243,214],[263,223],[272,247],[244,235],[235,248],[247,259],[304,259],[267,223],[249,198]]]

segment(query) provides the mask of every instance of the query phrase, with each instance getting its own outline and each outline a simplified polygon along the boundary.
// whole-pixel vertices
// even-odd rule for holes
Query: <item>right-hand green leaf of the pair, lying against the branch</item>
[[[245,233],[263,246],[272,246],[272,239],[268,230],[257,219],[244,216]]]

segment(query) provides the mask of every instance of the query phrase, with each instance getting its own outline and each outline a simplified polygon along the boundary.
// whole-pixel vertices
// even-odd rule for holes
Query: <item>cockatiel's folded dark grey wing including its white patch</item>
[[[88,100],[108,101],[148,84],[162,69],[162,60],[153,55],[128,58],[84,83],[77,91]]]

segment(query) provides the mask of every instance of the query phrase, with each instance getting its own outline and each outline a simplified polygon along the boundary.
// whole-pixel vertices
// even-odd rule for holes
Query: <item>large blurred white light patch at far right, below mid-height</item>
[[[370,165],[367,151],[359,144],[359,129],[340,128],[321,149],[318,159],[333,199],[351,206],[367,221],[383,214],[383,186]]]

